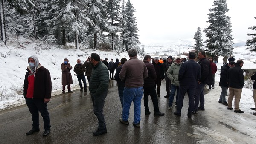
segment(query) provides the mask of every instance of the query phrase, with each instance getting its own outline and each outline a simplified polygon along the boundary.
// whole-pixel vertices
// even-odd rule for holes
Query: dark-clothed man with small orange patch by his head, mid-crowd
[[[163,63],[159,63],[158,57],[154,58],[154,69],[157,73],[157,79],[155,80],[155,85],[157,86],[157,96],[160,97],[161,83],[164,79],[164,69]]]

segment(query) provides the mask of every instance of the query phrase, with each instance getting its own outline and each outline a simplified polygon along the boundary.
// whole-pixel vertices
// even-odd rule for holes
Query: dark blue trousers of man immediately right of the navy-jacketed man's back
[[[194,99],[195,99],[195,106],[194,106],[194,111],[198,111],[198,105],[199,105],[199,101],[200,101],[200,108],[204,109],[204,86],[206,84],[201,83],[198,84],[196,89],[195,89],[195,95],[194,95]]]

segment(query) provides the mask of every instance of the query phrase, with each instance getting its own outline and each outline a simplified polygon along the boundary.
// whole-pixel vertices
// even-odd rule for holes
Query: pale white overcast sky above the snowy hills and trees
[[[209,9],[214,0],[130,0],[136,12],[139,38],[142,44],[162,44],[184,41],[194,43],[198,27],[205,40],[204,28],[209,26]],[[256,0],[227,0],[233,31],[233,42],[251,39],[248,29],[256,25]]]

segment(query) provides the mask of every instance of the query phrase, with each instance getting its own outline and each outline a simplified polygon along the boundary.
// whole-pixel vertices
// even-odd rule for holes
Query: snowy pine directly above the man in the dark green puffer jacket
[[[89,7],[87,16],[93,21],[93,26],[90,26],[90,34],[93,34],[93,49],[97,49],[98,40],[102,40],[102,33],[106,30],[106,1],[91,0],[87,5]]]

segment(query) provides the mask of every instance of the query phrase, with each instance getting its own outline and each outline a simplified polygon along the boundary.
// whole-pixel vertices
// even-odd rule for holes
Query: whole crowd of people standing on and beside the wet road
[[[213,63],[212,58],[207,58],[204,51],[198,52],[198,62],[195,61],[196,53],[189,52],[189,60],[177,56],[173,58],[168,56],[167,61],[162,58],[152,58],[150,55],[145,55],[143,60],[137,58],[136,49],[128,50],[129,60],[126,58],[113,59],[108,63],[108,58],[101,60],[100,56],[92,53],[84,63],[78,59],[74,66],[79,81],[80,91],[87,92],[86,78],[89,82],[90,96],[93,102],[93,112],[98,118],[98,128],[93,135],[102,135],[107,133],[103,107],[105,98],[108,95],[108,85],[111,80],[117,81],[118,95],[122,106],[122,118],[119,121],[122,124],[129,124],[129,110],[131,103],[134,104],[134,127],[140,127],[141,116],[141,99],[144,100],[145,115],[151,114],[148,106],[148,97],[150,95],[154,106],[154,115],[163,116],[165,113],[160,112],[158,106],[158,98],[161,93],[162,80],[166,81],[166,95],[164,98],[169,98],[167,109],[172,109],[172,104],[175,98],[175,107],[177,110],[174,115],[181,116],[183,107],[183,99],[185,94],[188,94],[189,108],[187,116],[192,117],[198,111],[204,111],[204,87],[209,86],[209,89],[215,87],[215,73],[217,66]],[[224,61],[226,60],[226,61]],[[221,66],[219,86],[221,94],[219,103],[227,106],[228,110],[232,110],[232,101],[234,101],[234,112],[244,113],[239,109],[241,92],[244,86],[244,75],[241,69],[244,62],[230,56],[229,63],[227,57],[224,57],[223,66]],[[51,98],[51,77],[50,72],[41,66],[38,58],[33,55],[28,58],[27,72],[24,80],[24,98],[26,99],[29,112],[32,114],[32,130],[26,133],[31,135],[39,131],[39,112],[44,118],[44,133],[47,136],[50,133],[50,118],[47,110],[47,103]],[[73,84],[70,70],[73,67],[69,60],[65,58],[61,64],[62,71],[62,93],[72,93],[71,84]],[[116,71],[115,75],[114,72]],[[85,75],[84,75],[85,73]],[[256,73],[251,76],[252,80],[256,80]],[[82,84],[83,82],[83,84]],[[227,90],[229,89],[228,99],[226,100]],[[253,98],[256,107],[256,83],[253,84]],[[165,92],[164,92],[165,93]],[[255,110],[251,108],[252,110]],[[256,112],[253,112],[256,115]]]

